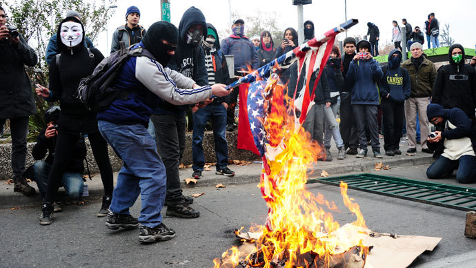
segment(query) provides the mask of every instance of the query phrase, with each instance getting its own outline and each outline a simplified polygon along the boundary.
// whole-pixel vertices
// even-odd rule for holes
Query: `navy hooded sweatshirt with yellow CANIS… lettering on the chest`
[[[390,58],[395,53],[398,53],[401,59],[400,50],[394,48],[390,51],[390,54],[388,54],[388,61],[390,61]],[[403,104],[405,99],[410,97],[412,90],[410,76],[407,70],[401,68],[400,64],[398,64],[398,66],[384,66],[382,72],[384,73],[384,77],[380,80],[381,99]]]

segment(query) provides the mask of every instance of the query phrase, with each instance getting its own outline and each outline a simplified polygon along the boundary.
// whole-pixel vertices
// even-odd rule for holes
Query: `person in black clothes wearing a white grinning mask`
[[[108,144],[99,133],[97,111],[88,109],[75,97],[79,81],[92,74],[104,58],[96,48],[84,46],[84,26],[75,17],[67,17],[59,23],[57,35],[61,54],[50,64],[50,88],[37,84],[37,95],[47,101],[59,101],[61,114],[58,122],[57,146],[54,161],[48,175],[48,189],[42,206],[39,223],[52,223],[53,202],[63,178],[63,173],[72,159],[72,151],[83,135],[88,135],[92,153],[101,172],[104,187],[103,203],[98,217],[107,215],[112,198],[112,167],[109,162]]]

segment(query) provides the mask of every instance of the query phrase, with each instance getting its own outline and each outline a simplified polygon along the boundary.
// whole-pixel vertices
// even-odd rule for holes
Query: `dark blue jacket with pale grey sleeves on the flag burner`
[[[134,48],[143,46],[139,42]],[[171,105],[195,104],[211,97],[210,86],[191,89],[195,82],[170,68],[147,57],[130,57],[123,65],[111,87],[128,93],[115,99],[105,111],[97,113],[97,119],[115,124],[143,124],[148,126],[149,117],[159,99]]]

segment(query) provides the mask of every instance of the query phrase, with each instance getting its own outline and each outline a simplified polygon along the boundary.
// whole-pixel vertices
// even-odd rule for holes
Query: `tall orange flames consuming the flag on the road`
[[[293,107],[292,99],[284,94],[285,86],[277,80],[268,80],[268,102],[264,106],[267,116],[262,119],[269,141],[267,151],[277,153],[273,157],[267,155],[258,185],[268,205],[268,218],[260,227],[263,233],[252,253],[246,255],[232,247],[221,259],[214,260],[215,268],[311,267],[313,262],[312,267],[332,267],[330,263],[354,247],[357,256],[365,258],[368,248],[363,245],[364,233],[353,227],[366,228],[366,224],[359,205],[347,195],[347,185],[341,183],[341,195],[357,220],[342,228],[331,213],[337,211],[335,204],[320,193],[306,190],[307,169],[321,148],[304,128],[296,127],[294,111],[284,105],[287,102],[288,107]],[[281,266],[277,266],[279,263]]]

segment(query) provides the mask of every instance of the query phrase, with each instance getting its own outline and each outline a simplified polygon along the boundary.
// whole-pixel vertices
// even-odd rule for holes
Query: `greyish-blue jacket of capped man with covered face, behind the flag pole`
[[[239,37],[230,35],[221,41],[221,52],[224,55],[233,55],[235,60],[235,71],[248,70],[251,66],[253,70],[259,67],[258,54],[255,45],[252,44],[248,37]]]

